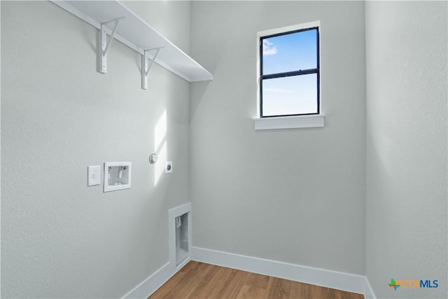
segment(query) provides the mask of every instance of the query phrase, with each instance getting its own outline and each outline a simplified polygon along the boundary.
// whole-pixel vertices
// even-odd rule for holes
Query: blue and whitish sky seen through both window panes
[[[316,30],[263,39],[263,74],[317,67]],[[263,116],[316,113],[317,75],[264,80]]]

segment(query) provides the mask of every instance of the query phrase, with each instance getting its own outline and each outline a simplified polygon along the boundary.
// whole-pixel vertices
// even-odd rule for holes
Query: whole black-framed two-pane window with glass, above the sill
[[[318,25],[259,33],[260,118],[320,111]]]

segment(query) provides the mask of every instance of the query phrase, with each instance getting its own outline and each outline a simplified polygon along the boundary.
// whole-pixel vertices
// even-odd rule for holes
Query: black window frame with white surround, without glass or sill
[[[302,25],[295,25],[290,27],[283,27],[280,29],[273,29],[265,32],[258,32],[258,117],[259,118],[283,118],[290,116],[320,116],[321,115],[321,57],[320,57],[320,22],[311,22]],[[295,71],[286,71],[276,74],[263,73],[263,40],[269,39],[276,36],[283,36],[288,34],[296,34],[298,32],[306,32],[310,30],[316,30],[316,68],[314,69],[299,69]],[[292,76],[302,76],[307,74],[316,74],[316,106],[317,112],[315,113],[295,113],[295,114],[281,114],[274,116],[263,116],[262,115],[262,81],[272,78],[286,78]]]

